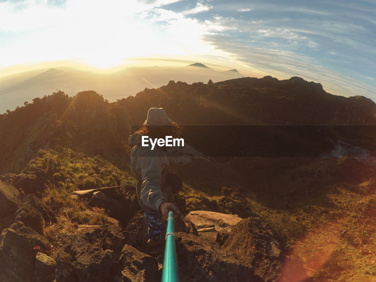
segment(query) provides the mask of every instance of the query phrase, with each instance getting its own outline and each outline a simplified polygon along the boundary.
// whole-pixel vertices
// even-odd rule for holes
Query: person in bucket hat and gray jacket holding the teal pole
[[[147,119],[143,126],[128,138],[132,146],[130,164],[137,180],[137,199],[141,208],[144,209],[149,226],[147,245],[150,247],[163,244],[164,238],[161,238],[161,235],[167,226],[168,212],[172,210],[176,218],[180,211],[174,205],[171,186],[166,183],[169,174],[169,162],[165,155],[167,147],[158,146],[155,143],[152,149],[150,142],[149,146],[142,146],[142,137],[148,136],[148,139],[155,140],[165,139],[166,136],[176,138],[179,134],[180,127],[167,117],[163,108],[155,107],[147,112]]]

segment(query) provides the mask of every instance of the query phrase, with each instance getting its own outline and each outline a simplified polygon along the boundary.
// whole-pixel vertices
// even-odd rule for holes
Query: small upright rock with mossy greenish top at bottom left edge
[[[51,282],[55,279],[56,261],[44,253],[37,253],[33,282]]]

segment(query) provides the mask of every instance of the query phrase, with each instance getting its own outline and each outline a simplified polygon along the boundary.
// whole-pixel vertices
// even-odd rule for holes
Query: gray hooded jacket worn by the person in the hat
[[[133,134],[128,142],[133,146],[130,165],[137,179],[136,192],[138,203],[143,209],[158,211],[159,205],[168,202],[164,192],[169,162],[161,147],[141,146],[142,134]],[[150,144],[150,142],[149,142]]]

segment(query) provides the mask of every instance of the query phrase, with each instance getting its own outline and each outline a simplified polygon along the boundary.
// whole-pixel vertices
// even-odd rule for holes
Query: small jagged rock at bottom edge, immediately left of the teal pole
[[[121,282],[158,282],[158,261],[152,256],[125,245],[120,255]]]

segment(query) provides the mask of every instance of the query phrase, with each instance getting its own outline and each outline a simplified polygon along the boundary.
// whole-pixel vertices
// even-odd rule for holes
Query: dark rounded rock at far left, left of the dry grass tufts
[[[32,228],[43,235],[44,219],[42,214],[30,205],[23,206],[14,214],[15,221],[22,221],[25,226]]]

